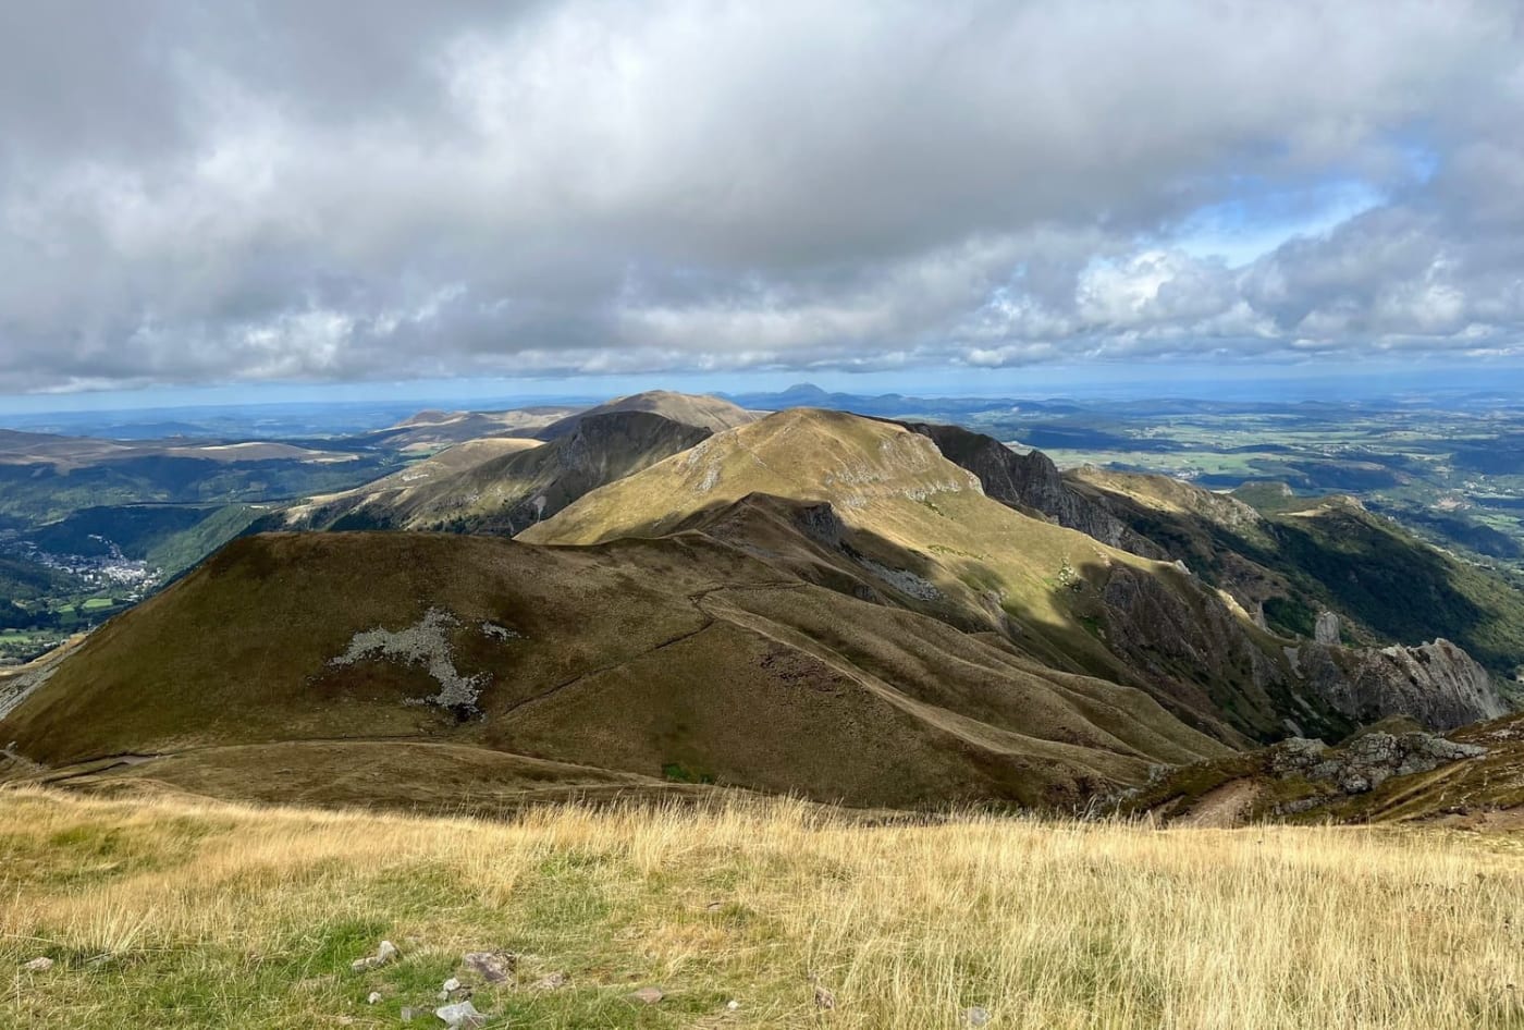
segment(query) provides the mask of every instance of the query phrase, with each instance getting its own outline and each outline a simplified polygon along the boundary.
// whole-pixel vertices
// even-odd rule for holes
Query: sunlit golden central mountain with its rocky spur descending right
[[[809,506],[815,541],[805,558],[779,542],[777,520],[756,501],[741,504],[754,495]],[[718,434],[588,494],[521,539],[585,545],[683,529],[721,533],[815,582],[998,634],[1050,667],[1149,690],[1233,745],[1305,730],[1343,736],[1372,709],[1448,725],[1501,705],[1465,657],[1454,670],[1436,667],[1433,692],[1420,693],[1443,701],[1422,710],[1405,672],[1390,690],[1356,690],[1381,667],[1364,652],[1276,637],[1189,570],[992,500],[931,437],[835,411],[794,408]]]

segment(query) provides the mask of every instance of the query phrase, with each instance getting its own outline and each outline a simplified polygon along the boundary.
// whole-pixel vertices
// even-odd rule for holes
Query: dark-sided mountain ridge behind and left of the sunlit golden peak
[[[646,411],[578,417],[547,443],[489,437],[285,512],[288,529],[447,529],[506,533],[605,483],[684,451],[710,433]]]

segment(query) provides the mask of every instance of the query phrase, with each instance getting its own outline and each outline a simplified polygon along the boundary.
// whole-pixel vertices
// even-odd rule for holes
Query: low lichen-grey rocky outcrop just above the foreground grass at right
[[[1300,776],[1327,783],[1340,794],[1364,794],[1394,776],[1428,772],[1451,762],[1480,759],[1486,753],[1487,748],[1475,744],[1458,744],[1431,733],[1366,733],[1343,748],[1292,737],[1271,750],[1269,771],[1280,779]]]

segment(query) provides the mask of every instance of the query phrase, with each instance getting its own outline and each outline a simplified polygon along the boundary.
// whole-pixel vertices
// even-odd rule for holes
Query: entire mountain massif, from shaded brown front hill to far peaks
[[[696,783],[1070,808],[1286,736],[1507,712],[1516,591],[1358,503],[1061,475],[782,396],[814,404],[408,419],[491,434],[268,515],[390,532],[233,541],[0,681],[0,737],[113,789],[265,797],[261,769],[351,782],[408,742],[419,780],[375,803]]]

